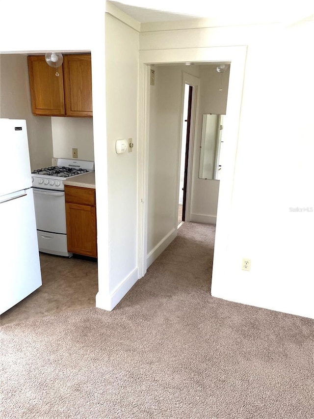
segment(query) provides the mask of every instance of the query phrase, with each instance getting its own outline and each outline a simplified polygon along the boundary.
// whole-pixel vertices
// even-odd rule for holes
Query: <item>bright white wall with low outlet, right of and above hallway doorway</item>
[[[314,317],[313,33],[305,21],[140,36],[140,50],[160,50],[159,59],[165,48],[186,59],[184,49],[248,45],[236,155],[236,144],[226,153],[235,170],[220,183],[212,295],[307,317]],[[251,258],[250,272],[241,270],[242,257]]]

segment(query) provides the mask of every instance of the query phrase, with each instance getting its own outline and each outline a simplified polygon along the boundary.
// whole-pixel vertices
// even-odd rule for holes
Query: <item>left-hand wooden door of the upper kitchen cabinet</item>
[[[44,56],[28,56],[31,107],[34,115],[64,115],[62,66],[50,67]]]

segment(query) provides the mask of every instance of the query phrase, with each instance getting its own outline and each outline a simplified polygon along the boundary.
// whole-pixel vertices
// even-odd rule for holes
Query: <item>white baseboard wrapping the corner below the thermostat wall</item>
[[[131,274],[123,279],[120,284],[108,295],[104,292],[96,294],[96,307],[111,311],[123,299],[132,288],[138,278],[138,268],[135,268]]]

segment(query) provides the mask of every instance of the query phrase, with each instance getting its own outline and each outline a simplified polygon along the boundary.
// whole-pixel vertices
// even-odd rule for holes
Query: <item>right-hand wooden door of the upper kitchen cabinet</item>
[[[65,113],[92,116],[92,63],[90,54],[63,56]]]

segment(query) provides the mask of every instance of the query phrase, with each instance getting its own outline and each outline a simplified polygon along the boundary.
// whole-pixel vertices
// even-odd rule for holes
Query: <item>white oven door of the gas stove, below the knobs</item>
[[[33,188],[37,230],[66,234],[64,191]]]

